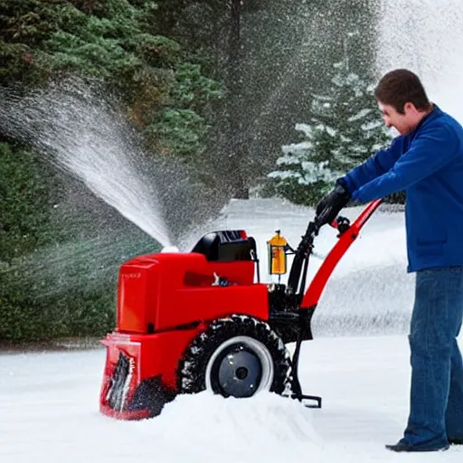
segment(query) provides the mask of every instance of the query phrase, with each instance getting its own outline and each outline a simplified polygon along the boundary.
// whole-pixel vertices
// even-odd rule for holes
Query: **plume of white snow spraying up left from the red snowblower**
[[[25,95],[0,88],[0,120],[5,135],[33,146],[79,178],[162,245],[172,244],[162,198],[147,176],[148,160],[137,134],[117,99],[99,85],[64,80]]]

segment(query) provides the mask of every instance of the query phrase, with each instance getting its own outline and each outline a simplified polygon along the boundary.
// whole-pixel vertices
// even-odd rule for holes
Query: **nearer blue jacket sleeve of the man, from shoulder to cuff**
[[[402,191],[447,165],[457,148],[458,137],[446,126],[423,128],[392,169],[354,191],[353,199],[366,203]]]

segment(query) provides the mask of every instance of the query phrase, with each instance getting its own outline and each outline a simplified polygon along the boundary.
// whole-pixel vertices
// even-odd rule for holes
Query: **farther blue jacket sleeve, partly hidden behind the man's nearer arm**
[[[382,149],[366,160],[363,164],[358,165],[347,173],[342,183],[345,184],[351,194],[358,190],[364,184],[368,184],[380,175],[386,174],[392,169],[403,153],[404,137],[396,137],[387,149]]]

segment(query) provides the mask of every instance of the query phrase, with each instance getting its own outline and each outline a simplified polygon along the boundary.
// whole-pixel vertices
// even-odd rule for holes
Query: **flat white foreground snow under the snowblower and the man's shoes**
[[[5,463],[397,461],[383,444],[407,416],[405,336],[318,338],[301,353],[307,393],[323,408],[261,392],[223,399],[180,396],[152,420],[99,414],[102,350],[0,356],[0,461]],[[408,455],[456,462],[462,450]]]

